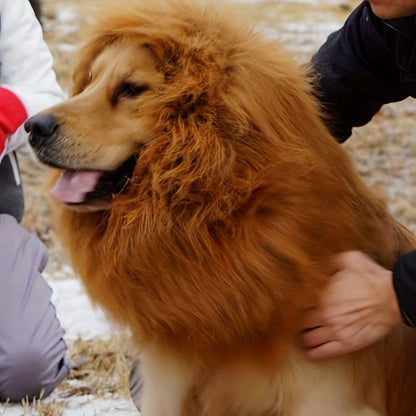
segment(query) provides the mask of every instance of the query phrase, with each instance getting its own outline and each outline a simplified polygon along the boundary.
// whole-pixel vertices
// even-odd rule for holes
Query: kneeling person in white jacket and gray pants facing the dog
[[[47,253],[19,225],[14,151],[26,118],[64,98],[28,0],[0,0],[0,401],[49,394],[68,374],[63,329],[42,276]]]

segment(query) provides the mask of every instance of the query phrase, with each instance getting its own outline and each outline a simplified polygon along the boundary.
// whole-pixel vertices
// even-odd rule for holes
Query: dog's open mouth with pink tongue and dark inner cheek
[[[121,192],[131,178],[136,157],[126,160],[114,171],[72,170],[62,172],[51,189],[58,201],[71,205],[88,205],[90,208],[105,209],[114,195]]]

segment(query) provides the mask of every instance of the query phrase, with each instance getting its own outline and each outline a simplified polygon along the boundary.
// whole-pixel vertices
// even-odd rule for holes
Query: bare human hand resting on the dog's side
[[[402,322],[391,271],[358,251],[335,256],[332,266],[321,303],[306,314],[301,334],[313,360],[368,347]]]

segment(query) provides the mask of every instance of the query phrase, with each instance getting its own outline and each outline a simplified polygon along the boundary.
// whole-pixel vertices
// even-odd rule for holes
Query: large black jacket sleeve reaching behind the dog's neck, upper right
[[[324,121],[340,142],[351,135],[352,127],[368,123],[383,104],[408,95],[401,91],[396,37],[365,1],[312,58]]]

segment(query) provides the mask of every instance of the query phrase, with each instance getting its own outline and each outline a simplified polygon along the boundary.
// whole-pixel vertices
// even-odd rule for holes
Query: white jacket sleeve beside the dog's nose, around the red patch
[[[53,58],[28,0],[0,0],[0,86],[12,91],[29,116],[64,98],[52,68]],[[6,151],[25,143],[21,126]],[[0,155],[1,159],[1,155]]]

